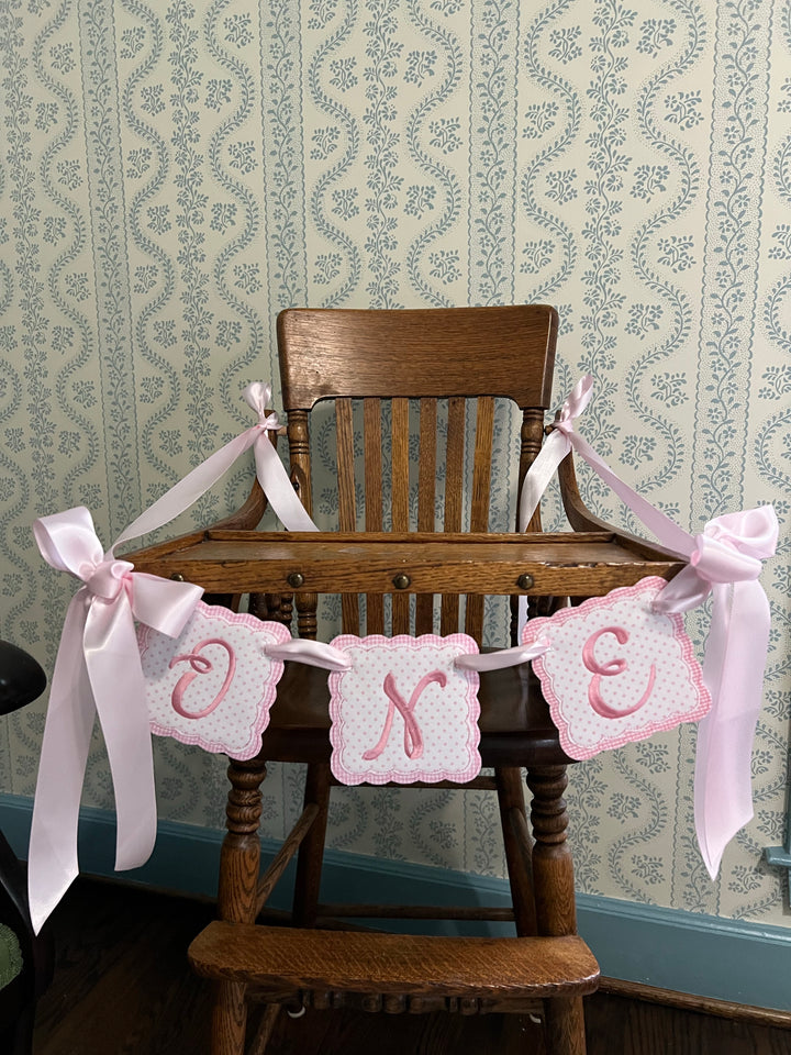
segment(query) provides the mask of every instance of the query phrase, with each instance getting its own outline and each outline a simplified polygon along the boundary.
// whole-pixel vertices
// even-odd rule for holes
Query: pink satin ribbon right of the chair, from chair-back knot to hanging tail
[[[553,432],[525,477],[520,528],[557,470],[575,451],[610,485],[661,545],[689,560],[661,591],[655,607],[682,612],[713,597],[703,678],[712,709],[700,722],[695,754],[695,832],[701,855],[716,878],[725,846],[753,817],[751,749],[761,708],[769,643],[769,602],[758,582],[761,562],[777,546],[771,506],[717,517],[692,536],[613,473],[578,432],[575,420],[590,402],[593,378],[582,377],[567,397]]]

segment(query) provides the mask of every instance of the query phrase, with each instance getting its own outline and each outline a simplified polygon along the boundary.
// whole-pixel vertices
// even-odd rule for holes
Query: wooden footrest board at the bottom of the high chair
[[[192,942],[199,975],[256,989],[503,1000],[582,996],[599,965],[581,937],[424,937],[216,921]],[[497,979],[497,980],[494,980]]]

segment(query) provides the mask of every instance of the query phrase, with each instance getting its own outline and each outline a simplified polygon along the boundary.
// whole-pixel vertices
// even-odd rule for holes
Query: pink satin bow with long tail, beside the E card
[[[772,556],[778,521],[771,506],[711,520],[694,538],[689,565],[655,607],[684,612],[713,597],[703,680],[712,709],[698,726],[694,815],[712,879],[728,842],[753,818],[751,753],[769,644],[769,602],[758,576]]]

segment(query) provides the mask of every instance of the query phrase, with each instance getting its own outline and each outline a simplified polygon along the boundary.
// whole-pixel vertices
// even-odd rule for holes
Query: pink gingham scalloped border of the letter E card
[[[616,590],[611,590],[610,593],[606,593],[604,597],[591,597],[575,608],[564,608],[554,615],[528,620],[522,632],[522,644],[530,644],[535,641],[536,637],[539,637],[542,628],[544,628],[545,636],[552,638],[553,625],[557,626],[569,619],[575,619],[579,612],[583,612],[587,608],[612,608],[613,604],[624,598],[638,598],[643,593],[653,593],[657,586],[664,589],[667,582],[659,576],[650,575],[645,579],[640,579],[635,586],[620,587]],[[703,684],[703,670],[694,654],[692,642],[684,630],[683,617],[678,612],[668,612],[667,614],[673,625],[673,637],[681,647],[681,660],[687,668],[690,682],[698,696],[698,707],[684,714],[683,718],[649,722],[642,729],[622,732],[617,736],[609,736],[600,741],[594,748],[580,748],[579,744],[569,738],[568,722],[562,715],[560,699],[555,691],[554,678],[546,669],[543,656],[538,656],[533,660],[533,669],[541,680],[544,697],[549,704],[549,714],[560,734],[560,746],[569,758],[584,762],[586,758],[592,758],[602,751],[611,751],[615,747],[623,747],[624,744],[647,740],[648,736],[654,733],[667,732],[684,722],[699,722],[709,713],[712,704],[711,693]]]

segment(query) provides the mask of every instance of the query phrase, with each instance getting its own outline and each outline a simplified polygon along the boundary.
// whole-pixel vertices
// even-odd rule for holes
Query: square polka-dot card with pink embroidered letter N
[[[454,666],[477,653],[466,634],[332,642],[352,662],[330,675],[331,767],[342,784],[464,784],[481,766],[479,676]]]

